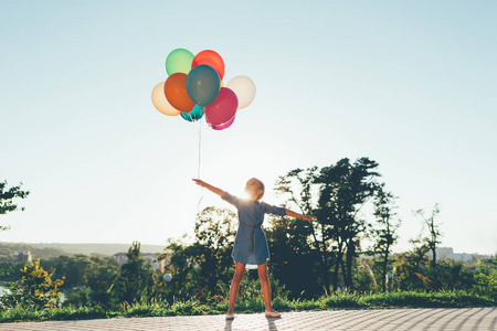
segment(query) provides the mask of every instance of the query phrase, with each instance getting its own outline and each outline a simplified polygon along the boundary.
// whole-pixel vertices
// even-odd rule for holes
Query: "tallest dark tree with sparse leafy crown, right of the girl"
[[[378,190],[376,179],[380,174],[374,172],[376,168],[378,163],[368,158],[353,164],[341,159],[320,170],[317,167],[292,170],[276,182],[275,191],[287,197],[287,205],[297,206],[303,214],[317,215],[317,222],[306,224],[298,235],[310,238],[308,245],[318,253],[326,291],[330,289],[331,266],[334,291],[338,288],[340,269],[345,286],[353,287],[353,258],[368,228],[359,212]]]

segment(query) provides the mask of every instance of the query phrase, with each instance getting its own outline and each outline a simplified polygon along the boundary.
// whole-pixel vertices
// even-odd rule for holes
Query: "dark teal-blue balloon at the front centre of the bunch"
[[[193,104],[207,107],[219,95],[221,79],[218,72],[210,65],[194,66],[187,76],[187,93]]]

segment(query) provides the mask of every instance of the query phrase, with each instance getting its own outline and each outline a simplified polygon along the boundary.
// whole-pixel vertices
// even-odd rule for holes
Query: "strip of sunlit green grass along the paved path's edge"
[[[341,292],[324,296],[315,300],[288,300],[275,298],[273,307],[279,311],[329,310],[329,309],[376,309],[376,308],[463,308],[495,307],[497,299],[464,291],[416,292],[399,291],[391,293],[358,295]],[[60,321],[82,319],[106,319],[116,317],[155,316],[198,316],[223,314],[228,302],[201,303],[197,300],[123,305],[117,310],[104,310],[98,307],[63,307],[52,309],[13,308],[0,310],[0,322]],[[264,311],[262,298],[240,300],[235,305],[237,313]]]

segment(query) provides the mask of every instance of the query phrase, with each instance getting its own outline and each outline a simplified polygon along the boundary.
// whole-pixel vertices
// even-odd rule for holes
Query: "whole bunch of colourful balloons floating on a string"
[[[169,77],[154,87],[151,99],[160,113],[180,115],[187,121],[205,121],[214,130],[229,128],[237,109],[255,98],[255,84],[246,76],[232,78],[224,87],[224,62],[214,51],[197,55],[177,49],[166,58]]]

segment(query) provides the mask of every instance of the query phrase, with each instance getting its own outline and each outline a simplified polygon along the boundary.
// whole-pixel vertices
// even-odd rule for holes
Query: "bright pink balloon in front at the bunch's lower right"
[[[212,126],[220,126],[230,121],[236,114],[239,98],[228,87],[221,87],[215,100],[205,107],[205,119]]]

